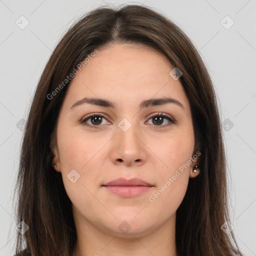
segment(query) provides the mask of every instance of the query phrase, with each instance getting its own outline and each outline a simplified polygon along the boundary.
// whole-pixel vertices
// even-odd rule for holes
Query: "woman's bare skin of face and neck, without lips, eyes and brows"
[[[72,256],[177,255],[176,210],[189,177],[199,173],[192,171],[196,160],[155,201],[148,199],[195,154],[189,101],[180,81],[169,75],[172,69],[161,52],[147,46],[113,44],[100,48],[68,85],[52,150],[73,205],[78,238]],[[110,100],[116,108],[84,103],[70,109],[84,97]],[[184,108],[174,103],[139,108],[142,100],[158,97],[172,97]],[[161,112],[176,123],[149,117]],[[88,118],[88,124],[100,126],[90,128],[79,122],[89,113],[107,118]],[[131,124],[126,131],[118,126],[123,118]],[[67,178],[72,169],[80,175],[74,183]],[[153,187],[124,198],[101,186],[118,177],[139,177]],[[123,221],[130,226],[127,233],[118,228]]]

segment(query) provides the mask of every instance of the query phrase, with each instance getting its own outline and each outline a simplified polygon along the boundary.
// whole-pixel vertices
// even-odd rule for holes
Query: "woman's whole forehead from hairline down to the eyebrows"
[[[99,48],[70,81],[66,100],[93,96],[140,102],[154,96],[171,96],[186,106],[188,100],[180,81],[169,75],[172,69],[163,53],[148,46],[114,44]]]

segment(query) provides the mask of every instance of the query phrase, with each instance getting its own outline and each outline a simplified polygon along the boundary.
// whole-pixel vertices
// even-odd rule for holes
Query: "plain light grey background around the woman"
[[[114,5],[131,2],[144,2],[174,21],[208,68],[221,121],[228,118],[223,132],[229,167],[229,221],[244,254],[256,255],[256,0],[107,1]],[[22,118],[26,120],[43,67],[66,29],[102,4],[99,0],[0,0],[0,255],[13,255],[17,223],[12,198]],[[22,15],[29,21],[23,29]]]

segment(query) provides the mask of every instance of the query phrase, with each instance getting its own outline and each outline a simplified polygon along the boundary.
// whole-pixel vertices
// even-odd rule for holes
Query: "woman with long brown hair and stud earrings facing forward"
[[[242,255],[210,77],[181,29],[146,6],[97,8],[60,40],[17,191],[16,255]]]

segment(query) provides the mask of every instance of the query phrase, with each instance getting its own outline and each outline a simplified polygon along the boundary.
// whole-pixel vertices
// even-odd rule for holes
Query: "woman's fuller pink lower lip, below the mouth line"
[[[133,197],[150,190],[151,186],[104,186],[108,191],[122,197]]]

